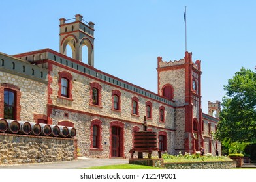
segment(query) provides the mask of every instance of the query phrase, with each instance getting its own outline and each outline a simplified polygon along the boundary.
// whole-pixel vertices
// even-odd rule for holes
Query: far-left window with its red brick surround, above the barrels
[[[20,106],[20,98],[21,98],[21,92],[20,88],[18,86],[12,85],[10,83],[1,83],[0,86],[0,118],[5,118],[5,93],[13,93],[13,107],[12,107],[12,119],[14,120],[20,120],[20,112],[21,112],[21,106]],[[6,105],[7,106],[7,105]],[[7,118],[11,119],[11,118]]]

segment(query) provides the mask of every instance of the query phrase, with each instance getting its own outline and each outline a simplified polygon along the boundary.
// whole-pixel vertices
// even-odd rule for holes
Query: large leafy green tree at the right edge
[[[256,73],[241,68],[224,90],[215,137],[225,144],[256,143]]]

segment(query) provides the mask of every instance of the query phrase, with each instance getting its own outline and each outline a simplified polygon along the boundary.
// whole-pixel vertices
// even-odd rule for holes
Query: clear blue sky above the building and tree
[[[242,66],[256,65],[256,1],[1,1],[0,52],[59,51],[59,18],[95,23],[95,68],[157,92],[157,57],[202,60],[202,109],[221,101]]]

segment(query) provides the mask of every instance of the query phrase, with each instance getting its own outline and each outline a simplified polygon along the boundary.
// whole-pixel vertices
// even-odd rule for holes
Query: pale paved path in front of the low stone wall
[[[77,169],[89,168],[91,166],[107,166],[114,164],[128,164],[128,159],[93,159],[86,157],[78,157],[78,159],[74,161],[65,162],[0,165],[0,169]]]

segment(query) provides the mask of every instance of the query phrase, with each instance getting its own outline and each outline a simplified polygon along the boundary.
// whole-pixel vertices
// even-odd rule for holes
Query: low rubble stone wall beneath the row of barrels
[[[76,140],[0,133],[0,164],[71,161]]]

